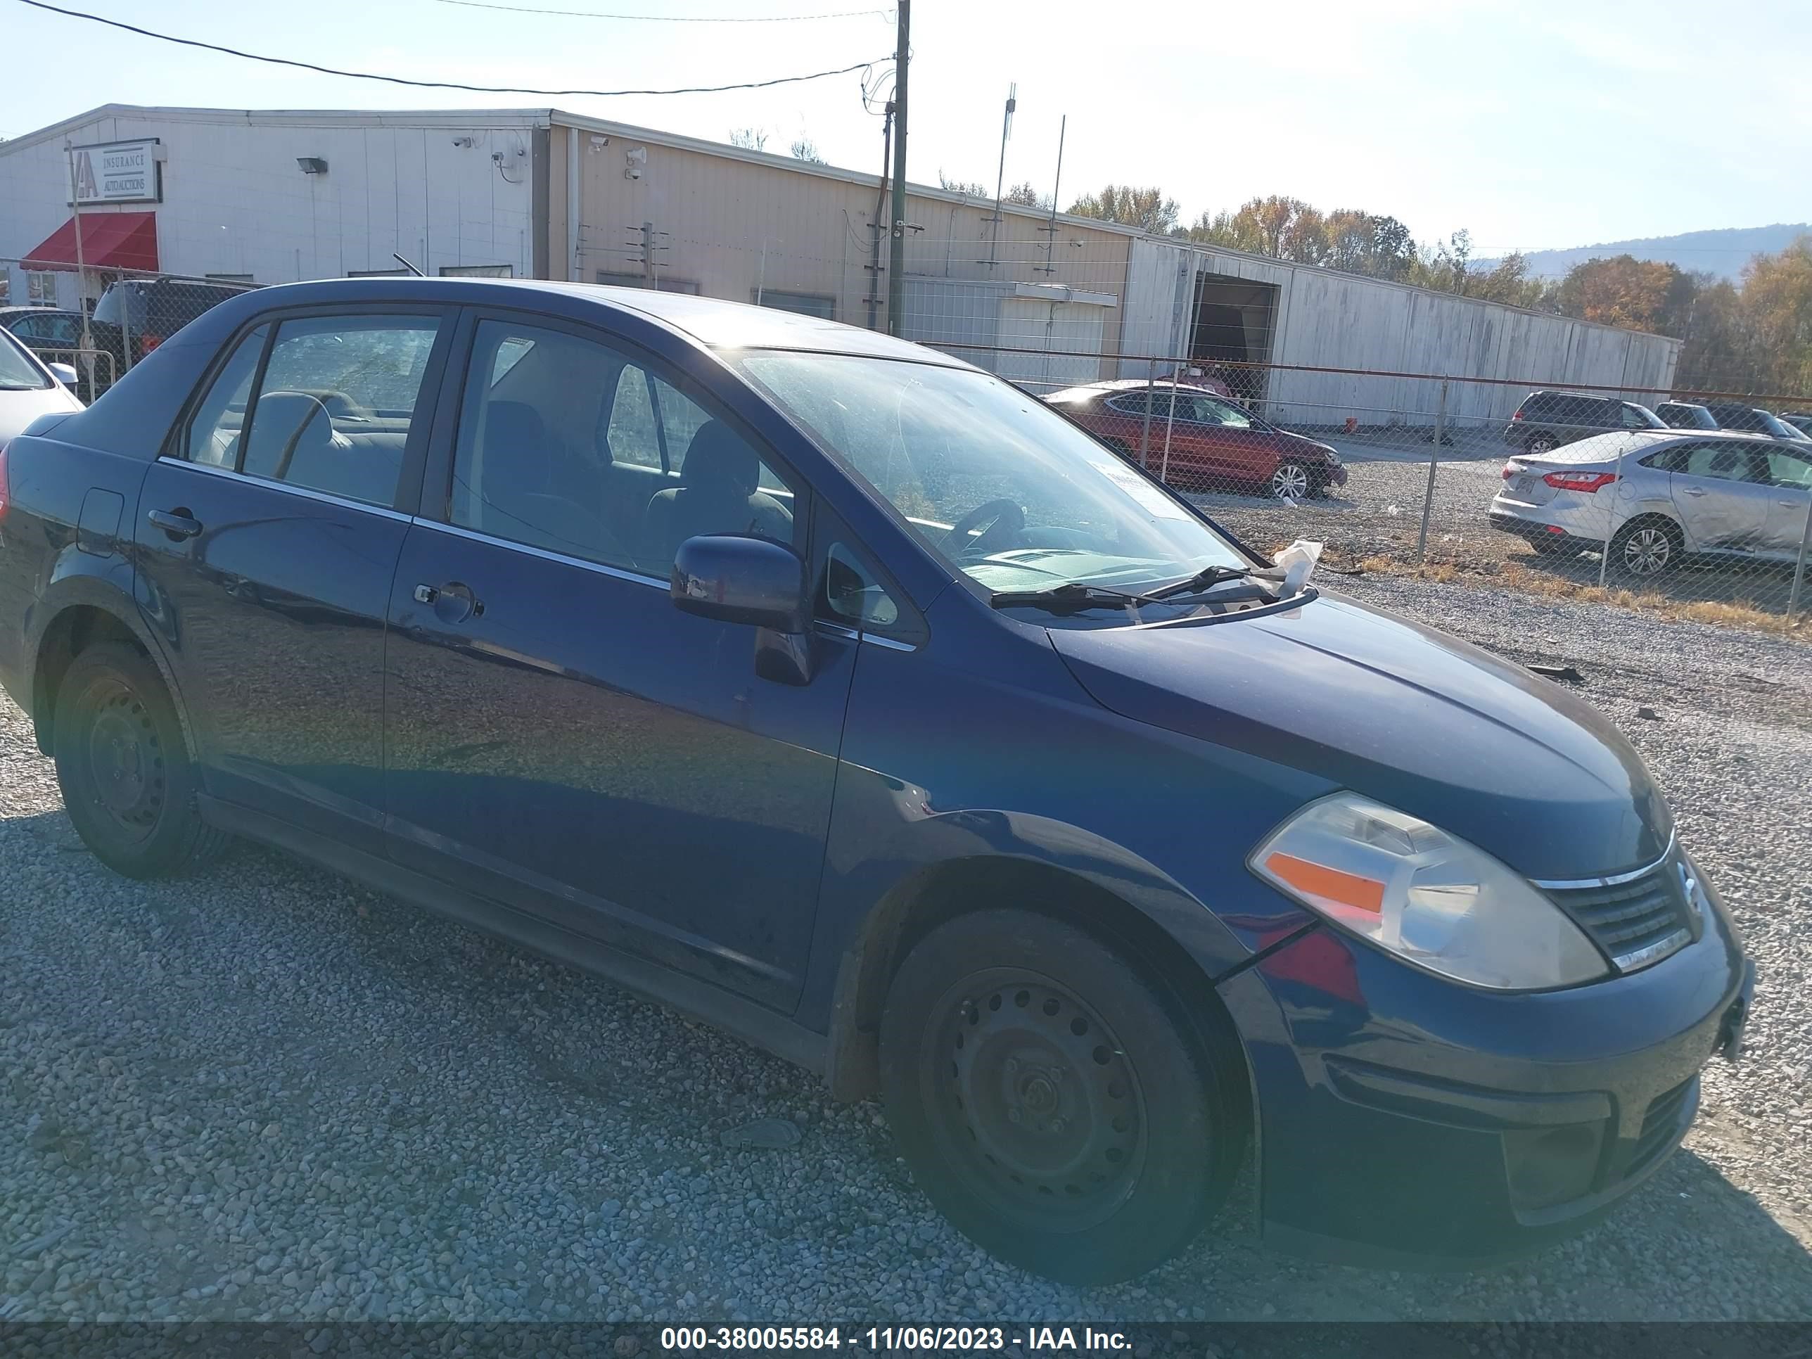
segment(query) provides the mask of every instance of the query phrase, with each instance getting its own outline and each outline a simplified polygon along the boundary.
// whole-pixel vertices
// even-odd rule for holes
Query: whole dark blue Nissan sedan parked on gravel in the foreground
[[[1752,973],[1634,750],[815,317],[268,288],[4,453],[0,680],[130,877],[228,835],[879,1094],[1076,1283],[1491,1259],[1647,1180]]]

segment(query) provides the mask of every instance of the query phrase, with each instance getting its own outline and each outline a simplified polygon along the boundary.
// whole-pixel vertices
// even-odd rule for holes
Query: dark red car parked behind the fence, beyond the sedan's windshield
[[[1149,393],[1149,395],[1147,395]],[[1131,462],[1189,491],[1247,491],[1303,500],[1346,484],[1341,455],[1314,439],[1292,435],[1205,386],[1143,379],[1089,382],[1053,391],[1046,400]],[[1147,437],[1145,402],[1151,402]],[[1174,419],[1172,419],[1174,400]],[[1165,462],[1165,422],[1171,457]]]

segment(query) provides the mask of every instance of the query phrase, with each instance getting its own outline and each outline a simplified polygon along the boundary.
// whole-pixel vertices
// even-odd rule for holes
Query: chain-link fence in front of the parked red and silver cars
[[[1009,377],[1261,551],[1314,538],[1334,569],[1767,627],[1812,602],[1812,397],[933,348]]]

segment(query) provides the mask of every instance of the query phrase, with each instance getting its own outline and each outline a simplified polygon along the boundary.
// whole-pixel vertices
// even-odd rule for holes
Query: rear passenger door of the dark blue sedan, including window
[[[437,308],[277,315],[145,477],[136,547],[210,794],[382,848],[384,612],[420,487]]]

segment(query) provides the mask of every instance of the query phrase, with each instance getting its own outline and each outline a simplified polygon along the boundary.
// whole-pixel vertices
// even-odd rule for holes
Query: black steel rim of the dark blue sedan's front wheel
[[[1065,986],[975,973],[944,993],[924,1042],[942,1160],[998,1216],[1076,1232],[1132,1196],[1149,1151],[1145,1093],[1113,1031]]]

